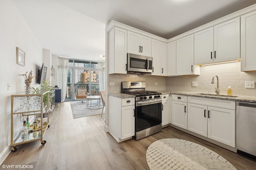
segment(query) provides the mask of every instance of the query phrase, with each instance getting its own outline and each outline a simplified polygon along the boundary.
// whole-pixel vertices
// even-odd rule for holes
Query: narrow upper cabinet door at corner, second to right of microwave
[[[167,76],[167,44],[160,43],[161,76]]]

